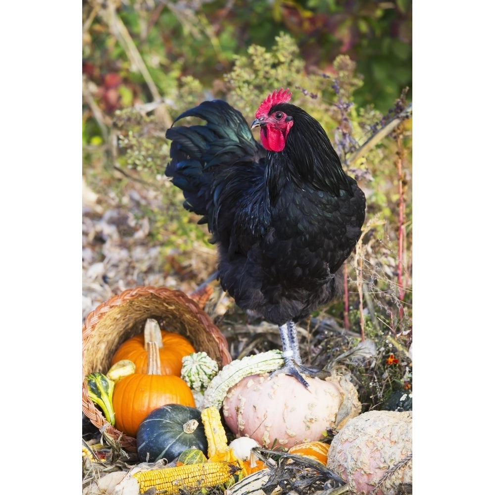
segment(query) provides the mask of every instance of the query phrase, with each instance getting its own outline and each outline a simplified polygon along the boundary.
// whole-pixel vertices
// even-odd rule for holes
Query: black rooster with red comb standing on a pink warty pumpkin
[[[259,106],[251,129],[222,100],[185,111],[204,125],[172,127],[165,174],[184,207],[203,218],[218,246],[222,288],[244,310],[276,323],[285,366],[306,387],[295,322],[336,293],[336,272],[356,245],[366,200],[321,125],[288,103],[288,90]],[[174,122],[174,123],[175,123]],[[298,371],[299,370],[299,371]]]

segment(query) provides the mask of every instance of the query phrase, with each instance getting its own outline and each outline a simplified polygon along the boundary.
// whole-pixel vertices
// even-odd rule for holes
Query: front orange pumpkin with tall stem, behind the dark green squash
[[[136,437],[139,425],[148,414],[166,404],[182,404],[195,407],[191,389],[175,375],[162,375],[156,341],[150,340],[145,328],[148,348],[148,373],[127,375],[115,384],[113,410],[115,426],[122,432]]]

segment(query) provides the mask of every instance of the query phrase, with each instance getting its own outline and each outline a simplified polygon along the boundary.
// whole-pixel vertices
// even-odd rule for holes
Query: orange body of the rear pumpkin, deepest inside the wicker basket
[[[156,323],[156,326],[158,324]],[[161,331],[158,342],[162,375],[181,376],[182,358],[196,352],[192,344],[182,335]],[[146,373],[148,369],[148,352],[145,347],[144,334],[138,334],[125,341],[112,357],[111,364],[122,359],[129,359],[136,365],[136,373]]]

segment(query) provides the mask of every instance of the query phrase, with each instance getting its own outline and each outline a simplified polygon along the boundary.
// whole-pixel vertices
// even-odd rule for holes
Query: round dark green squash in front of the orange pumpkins
[[[171,462],[187,448],[198,448],[205,455],[208,449],[201,411],[181,404],[150,412],[139,426],[136,440],[141,462]]]

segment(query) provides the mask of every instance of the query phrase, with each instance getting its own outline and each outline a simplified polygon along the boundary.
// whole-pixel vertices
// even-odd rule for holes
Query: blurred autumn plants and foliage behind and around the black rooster
[[[347,304],[323,313],[373,338],[383,359],[393,339],[408,363],[412,119],[394,119],[412,101],[412,1],[85,0],[82,13],[84,181],[100,198],[124,197],[136,183],[159,195],[161,206],[141,214],[163,270],[180,273],[190,253],[211,248],[207,230],[181,207],[181,192],[163,178],[165,130],[212,98],[250,121],[268,93],[290,88],[367,197],[364,235],[347,264]],[[359,153],[391,121],[392,132]],[[193,272],[201,283],[205,273]],[[363,384],[368,400],[378,394],[371,406],[387,398],[377,380],[386,369]],[[408,364],[395,375],[388,396],[404,382],[410,388]]]

